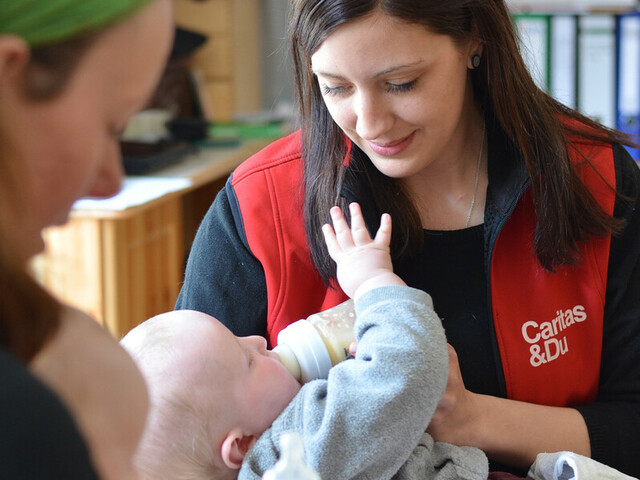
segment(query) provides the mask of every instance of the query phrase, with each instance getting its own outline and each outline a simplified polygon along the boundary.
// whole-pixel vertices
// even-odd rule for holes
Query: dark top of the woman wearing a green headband
[[[2,349],[0,478],[98,480],[67,409],[24,364]]]

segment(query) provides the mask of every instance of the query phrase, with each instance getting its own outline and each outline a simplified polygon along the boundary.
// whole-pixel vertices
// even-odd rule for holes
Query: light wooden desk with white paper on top
[[[69,222],[45,231],[36,277],[62,301],[95,317],[116,337],[172,310],[186,255],[202,216],[229,173],[269,140],[205,148],[152,176],[136,177],[99,208],[74,207]],[[132,190],[176,180],[180,186],[123,206]]]

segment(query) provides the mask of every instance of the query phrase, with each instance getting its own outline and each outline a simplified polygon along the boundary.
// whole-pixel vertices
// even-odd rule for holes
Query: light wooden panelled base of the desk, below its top
[[[120,338],[140,321],[171,310],[183,271],[182,199],[175,195],[100,218],[77,212],[45,232],[39,278]]]

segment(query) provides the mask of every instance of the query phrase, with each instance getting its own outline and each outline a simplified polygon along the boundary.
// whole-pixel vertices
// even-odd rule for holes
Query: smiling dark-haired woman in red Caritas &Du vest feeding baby
[[[358,201],[372,232],[389,212],[451,345],[429,433],[499,470],[572,450],[640,475],[629,140],[535,86],[502,0],[295,0],[290,40],[301,130],[234,172],[177,308],[274,344],[344,298],[324,212]]]

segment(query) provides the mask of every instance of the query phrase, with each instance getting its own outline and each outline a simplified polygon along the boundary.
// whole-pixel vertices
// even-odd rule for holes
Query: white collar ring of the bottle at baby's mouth
[[[278,346],[280,345],[289,347],[298,359],[302,383],[327,378],[329,375],[331,357],[322,337],[307,320],[298,320],[281,330],[278,333]],[[278,347],[274,350],[279,353]]]

